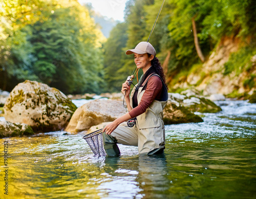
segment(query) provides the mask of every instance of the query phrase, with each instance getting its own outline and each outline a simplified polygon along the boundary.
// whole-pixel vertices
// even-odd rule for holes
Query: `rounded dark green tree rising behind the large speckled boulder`
[[[75,8],[72,8],[74,12]],[[70,13],[67,17],[67,13]],[[41,81],[57,87],[65,93],[96,92],[98,60],[91,43],[84,42],[89,33],[80,33],[78,10],[71,14],[70,8],[56,10],[48,21],[38,21],[31,28],[30,42],[34,47],[35,74]],[[93,35],[92,35],[93,36]]]

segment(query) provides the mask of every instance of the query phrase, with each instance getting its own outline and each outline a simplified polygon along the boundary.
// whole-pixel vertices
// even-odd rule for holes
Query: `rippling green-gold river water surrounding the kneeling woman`
[[[2,139],[0,198],[256,198],[256,104],[216,103],[222,112],[202,123],[166,125],[155,157],[119,145],[120,157],[97,158],[65,131]]]

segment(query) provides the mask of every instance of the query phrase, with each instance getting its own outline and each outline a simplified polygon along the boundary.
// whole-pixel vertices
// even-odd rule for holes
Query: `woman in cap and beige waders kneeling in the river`
[[[165,144],[163,108],[168,100],[163,68],[149,42],[140,42],[135,49],[127,50],[126,54],[134,54],[135,64],[142,69],[143,75],[130,97],[130,85],[127,81],[122,84],[121,92],[125,95],[129,113],[103,128],[105,151],[108,156],[118,156],[120,151],[116,143],[121,143],[138,146],[140,154],[162,152]],[[132,118],[137,119],[133,127],[118,127]]]

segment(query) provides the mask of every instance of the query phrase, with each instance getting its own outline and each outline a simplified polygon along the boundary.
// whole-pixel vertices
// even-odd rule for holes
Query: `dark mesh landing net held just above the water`
[[[106,156],[103,147],[102,129],[94,131],[91,134],[83,136],[82,138],[86,140],[95,156]]]

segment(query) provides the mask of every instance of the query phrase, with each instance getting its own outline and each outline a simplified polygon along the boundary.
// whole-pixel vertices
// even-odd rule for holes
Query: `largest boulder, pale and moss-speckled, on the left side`
[[[26,80],[14,87],[4,105],[7,121],[25,123],[34,131],[65,128],[77,107],[59,90]]]

